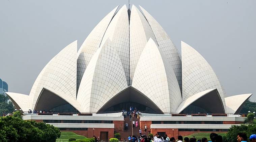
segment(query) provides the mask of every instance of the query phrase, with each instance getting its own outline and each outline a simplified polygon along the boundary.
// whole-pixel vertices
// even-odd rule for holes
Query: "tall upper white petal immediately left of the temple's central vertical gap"
[[[119,55],[129,84],[129,19],[126,5],[121,7],[111,20],[102,43],[108,38]]]

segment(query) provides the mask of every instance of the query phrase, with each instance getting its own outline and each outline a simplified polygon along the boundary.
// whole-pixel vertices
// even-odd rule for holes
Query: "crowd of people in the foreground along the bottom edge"
[[[256,142],[256,135],[255,134],[251,135],[249,139],[250,139],[250,142]],[[178,139],[176,140],[174,137],[169,138],[167,135],[165,135],[164,137],[161,137],[158,134],[155,134],[153,137],[150,137],[150,136],[147,137],[146,135],[141,135],[140,137],[130,135],[127,139],[124,139],[124,141],[129,141],[129,142],[223,142],[223,139],[221,135],[218,135],[216,133],[210,134],[209,141],[207,138],[196,139],[195,137],[193,138],[185,137],[183,139],[182,136],[178,136]],[[248,137],[245,133],[237,134],[237,142],[247,142],[247,141],[248,141]]]

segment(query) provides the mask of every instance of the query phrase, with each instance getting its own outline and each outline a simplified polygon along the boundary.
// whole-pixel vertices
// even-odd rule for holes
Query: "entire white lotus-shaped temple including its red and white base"
[[[58,112],[26,114],[23,119],[86,137],[93,133],[102,140],[114,132],[129,134],[123,130],[127,118],[121,111],[130,106],[142,113],[138,121],[139,128],[147,126],[145,134],[169,137],[226,132],[246,119],[239,112],[252,94],[226,97],[203,56],[183,41],[179,53],[141,6],[115,7],[77,48],[74,41],[53,57],[29,95],[6,92],[24,113]]]

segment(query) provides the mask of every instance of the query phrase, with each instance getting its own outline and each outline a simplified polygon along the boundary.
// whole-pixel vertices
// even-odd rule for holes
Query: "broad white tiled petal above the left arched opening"
[[[62,49],[40,72],[30,92],[34,108],[42,88],[76,99],[77,41]]]

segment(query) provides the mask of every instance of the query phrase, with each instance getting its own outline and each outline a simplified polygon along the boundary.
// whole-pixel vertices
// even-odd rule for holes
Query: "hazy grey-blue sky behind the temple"
[[[180,51],[194,47],[211,65],[226,96],[254,93],[255,0],[130,0],[165,29]],[[80,47],[96,24],[128,0],[1,0],[0,78],[9,92],[29,94],[42,68],[66,45]],[[240,67],[240,68],[239,68]]]

